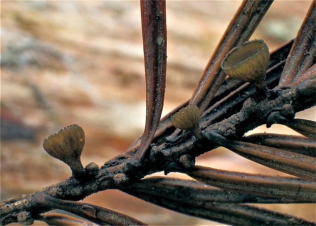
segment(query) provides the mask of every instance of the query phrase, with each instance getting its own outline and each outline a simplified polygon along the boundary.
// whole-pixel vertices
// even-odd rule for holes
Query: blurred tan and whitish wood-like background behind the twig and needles
[[[270,50],[294,38],[310,1],[276,1],[251,39]],[[241,1],[167,1],[168,68],[164,112],[192,92]],[[1,1],[1,199],[58,183],[71,171],[42,142],[78,124],[83,165],[123,152],[145,124],[145,79],[138,1]],[[297,117],[315,120],[315,109]],[[295,134],[273,125],[255,132]],[[229,163],[229,164],[227,164]],[[197,159],[214,168],[280,175],[224,149]],[[162,174],[156,174],[162,175]],[[184,177],[181,174],[168,176]],[[84,202],[152,225],[216,225],[116,190]],[[261,205],[315,220],[315,205]],[[41,225],[41,222],[37,222]]]

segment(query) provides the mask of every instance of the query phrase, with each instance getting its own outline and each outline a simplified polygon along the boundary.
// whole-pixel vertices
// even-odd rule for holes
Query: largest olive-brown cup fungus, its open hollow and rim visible
[[[221,68],[232,78],[263,88],[269,58],[267,44],[263,40],[252,40],[228,52],[221,63]]]

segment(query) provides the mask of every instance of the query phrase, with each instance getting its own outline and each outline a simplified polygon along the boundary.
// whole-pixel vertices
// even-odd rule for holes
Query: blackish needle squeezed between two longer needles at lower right
[[[169,177],[148,177],[135,183],[124,192],[135,196],[155,196],[177,199],[179,202],[183,199],[200,202],[217,203],[308,203],[309,201],[300,201],[289,198],[271,198],[265,196],[251,195],[249,193],[240,193],[238,191],[227,191],[213,186],[207,186],[196,180],[183,180]]]

